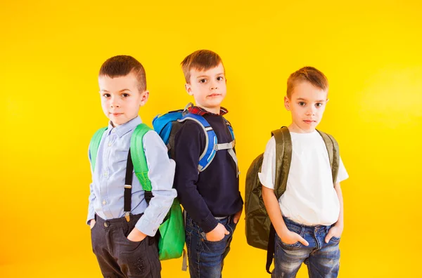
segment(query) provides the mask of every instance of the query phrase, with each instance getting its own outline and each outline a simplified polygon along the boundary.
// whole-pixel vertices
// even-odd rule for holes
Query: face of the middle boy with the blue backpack
[[[226,96],[226,77],[222,63],[203,72],[191,69],[191,80],[185,84],[185,88],[189,95],[193,95],[198,107],[219,114],[220,105]]]

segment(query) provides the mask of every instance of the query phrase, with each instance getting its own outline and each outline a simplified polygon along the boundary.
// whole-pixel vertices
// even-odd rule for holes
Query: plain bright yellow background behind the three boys
[[[191,100],[179,63],[200,48],[224,60],[243,196],[250,162],[290,123],[288,75],[326,74],[319,128],[350,174],[340,277],[420,277],[421,11],[420,1],[1,1],[0,277],[101,276],[84,224],[87,147],[107,124],[98,69],[119,54],[143,63],[151,124]],[[269,277],[264,263],[241,220],[224,277]],[[188,274],[172,260],[162,277]]]

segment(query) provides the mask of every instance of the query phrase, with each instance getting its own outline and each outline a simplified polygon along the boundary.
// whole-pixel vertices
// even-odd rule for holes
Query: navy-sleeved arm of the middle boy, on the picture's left
[[[217,227],[218,221],[208,209],[196,187],[199,178],[199,157],[204,148],[204,131],[195,122],[186,121],[174,140],[174,160],[176,161],[174,188],[177,190],[181,205],[189,216],[207,233]],[[218,175],[218,173],[215,174]]]

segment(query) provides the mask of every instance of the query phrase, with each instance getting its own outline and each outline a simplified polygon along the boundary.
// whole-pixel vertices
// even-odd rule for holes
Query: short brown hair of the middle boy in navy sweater
[[[187,55],[186,58],[181,61],[180,65],[186,83],[189,83],[191,80],[191,69],[204,71],[211,69],[212,67],[217,67],[220,63],[222,63],[222,58],[220,58],[217,53],[203,49],[195,51],[191,55]]]

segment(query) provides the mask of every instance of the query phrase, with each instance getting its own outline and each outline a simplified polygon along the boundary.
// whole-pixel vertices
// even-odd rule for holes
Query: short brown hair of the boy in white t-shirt
[[[293,74],[290,74],[290,77],[287,79],[287,97],[292,96],[293,89],[295,84],[300,82],[307,81],[310,84],[314,85],[316,88],[321,90],[328,91],[328,79],[327,77],[314,67],[302,67]]]

